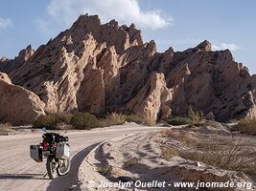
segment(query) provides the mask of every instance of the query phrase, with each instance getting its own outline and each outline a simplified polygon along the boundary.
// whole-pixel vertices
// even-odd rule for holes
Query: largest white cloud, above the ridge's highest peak
[[[143,11],[138,0],[51,0],[46,15],[36,24],[42,32],[63,30],[85,13],[98,14],[103,23],[116,19],[120,24],[134,23],[151,30],[174,25],[174,19],[162,16],[161,11]]]

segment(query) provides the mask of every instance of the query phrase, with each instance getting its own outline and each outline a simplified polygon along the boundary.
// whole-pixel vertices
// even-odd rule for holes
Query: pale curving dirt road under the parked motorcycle
[[[70,132],[72,166],[68,176],[49,180],[45,160],[36,163],[30,158],[29,145],[41,141],[41,134],[0,137],[0,190],[12,191],[65,191],[78,182],[81,161],[98,143],[120,136],[152,131],[156,128],[126,124],[91,131]]]

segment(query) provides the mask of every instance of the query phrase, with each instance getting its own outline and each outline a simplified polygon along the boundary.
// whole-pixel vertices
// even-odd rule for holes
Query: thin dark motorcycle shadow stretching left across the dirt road
[[[44,174],[0,174],[0,180],[49,180]]]

